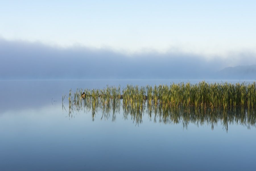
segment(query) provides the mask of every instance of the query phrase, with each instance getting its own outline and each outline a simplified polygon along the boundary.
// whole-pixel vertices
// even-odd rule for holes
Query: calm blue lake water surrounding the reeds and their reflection
[[[184,127],[184,116],[163,122],[144,112],[138,123],[122,107],[114,119],[62,108],[70,88],[173,81],[0,81],[0,170],[255,170],[256,129],[239,111],[238,121],[214,118],[212,129],[192,114]]]

